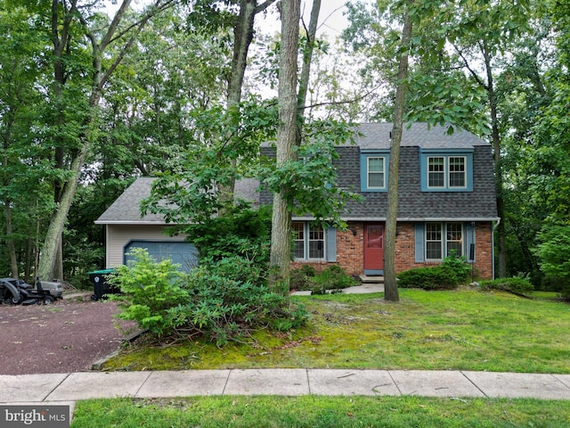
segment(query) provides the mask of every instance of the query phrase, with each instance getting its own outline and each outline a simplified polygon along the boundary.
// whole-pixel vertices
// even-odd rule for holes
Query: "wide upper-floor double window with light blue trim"
[[[471,192],[473,152],[421,152],[421,190],[424,192]]]

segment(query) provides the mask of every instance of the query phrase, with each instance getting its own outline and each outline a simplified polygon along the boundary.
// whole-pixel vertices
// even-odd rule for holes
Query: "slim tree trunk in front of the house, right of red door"
[[[395,277],[395,240],[398,218],[398,167],[400,143],[403,131],[403,110],[408,78],[408,45],[411,39],[411,17],[408,12],[413,1],[408,2],[404,16],[402,40],[400,42],[400,63],[398,83],[395,90],[394,128],[390,142],[390,165],[388,168],[388,207],[386,218],[386,245],[384,248],[384,299],[398,301],[398,284]]]

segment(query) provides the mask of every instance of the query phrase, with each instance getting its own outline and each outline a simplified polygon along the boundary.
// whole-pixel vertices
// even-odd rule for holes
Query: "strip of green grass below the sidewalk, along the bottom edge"
[[[191,397],[77,403],[72,428],[567,427],[570,401],[422,397]]]

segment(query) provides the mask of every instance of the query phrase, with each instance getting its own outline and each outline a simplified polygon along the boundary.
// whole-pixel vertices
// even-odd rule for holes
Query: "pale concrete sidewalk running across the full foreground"
[[[570,399],[570,374],[271,368],[0,375],[2,404],[306,394]]]

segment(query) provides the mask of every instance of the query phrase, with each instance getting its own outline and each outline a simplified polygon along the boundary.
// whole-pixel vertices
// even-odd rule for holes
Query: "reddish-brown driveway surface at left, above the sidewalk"
[[[109,300],[0,305],[0,374],[91,370],[95,361],[118,350],[133,328],[117,324],[117,313],[117,303]]]

